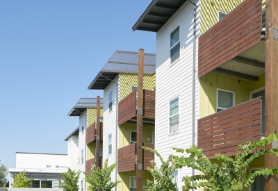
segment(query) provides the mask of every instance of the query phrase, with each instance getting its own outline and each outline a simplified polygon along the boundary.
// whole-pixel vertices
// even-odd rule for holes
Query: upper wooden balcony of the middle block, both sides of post
[[[156,92],[143,91],[143,124],[154,125]],[[137,121],[137,96],[133,90],[128,96],[119,102],[119,125],[124,122],[136,123]]]

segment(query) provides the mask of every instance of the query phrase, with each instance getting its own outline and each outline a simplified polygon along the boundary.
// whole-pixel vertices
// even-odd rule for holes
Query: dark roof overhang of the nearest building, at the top
[[[132,27],[133,31],[157,32],[187,0],[153,0]]]

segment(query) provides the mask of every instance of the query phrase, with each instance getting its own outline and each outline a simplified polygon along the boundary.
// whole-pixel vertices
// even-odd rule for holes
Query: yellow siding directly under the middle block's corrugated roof
[[[154,90],[154,75],[144,75],[143,88],[145,90]],[[120,101],[131,92],[131,85],[138,85],[137,74],[120,74]]]

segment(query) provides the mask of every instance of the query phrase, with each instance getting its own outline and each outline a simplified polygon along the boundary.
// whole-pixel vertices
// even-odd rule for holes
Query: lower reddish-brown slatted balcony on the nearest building
[[[260,140],[264,133],[261,104],[258,97],[199,119],[198,147],[208,158],[214,158],[215,153],[235,156],[239,143]]]

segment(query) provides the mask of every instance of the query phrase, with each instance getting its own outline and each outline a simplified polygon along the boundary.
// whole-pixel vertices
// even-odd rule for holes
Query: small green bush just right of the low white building
[[[59,188],[63,188],[65,191],[78,191],[78,181],[79,181],[79,175],[81,171],[75,171],[70,168],[67,168],[67,172],[60,173],[61,176],[63,176],[63,184],[59,185]]]

